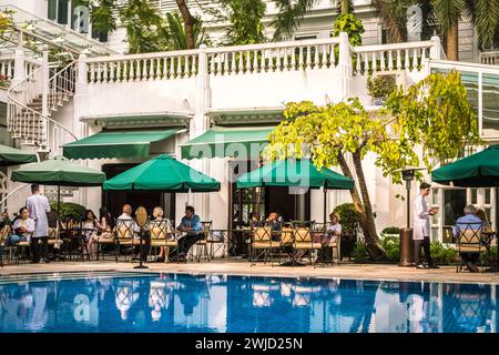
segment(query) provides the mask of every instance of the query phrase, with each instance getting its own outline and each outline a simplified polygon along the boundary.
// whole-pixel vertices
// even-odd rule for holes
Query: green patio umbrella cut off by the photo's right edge
[[[499,144],[435,170],[431,180],[462,187],[499,186]]]

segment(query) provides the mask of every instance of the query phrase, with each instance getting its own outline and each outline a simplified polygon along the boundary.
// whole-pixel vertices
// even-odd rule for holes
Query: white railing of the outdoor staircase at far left
[[[52,111],[74,95],[75,62],[59,70],[48,82],[44,79],[49,77],[45,62],[9,88],[7,122],[13,139],[50,155],[59,154],[61,145],[77,140],[68,128],[50,118]]]

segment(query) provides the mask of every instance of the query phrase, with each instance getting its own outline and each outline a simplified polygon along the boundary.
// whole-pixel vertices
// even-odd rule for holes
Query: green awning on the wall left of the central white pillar
[[[151,143],[163,141],[179,131],[175,129],[131,131],[109,130],[62,146],[69,159],[147,158]]]

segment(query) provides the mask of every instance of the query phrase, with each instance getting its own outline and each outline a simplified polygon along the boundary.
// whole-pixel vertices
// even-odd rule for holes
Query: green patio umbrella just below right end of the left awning
[[[212,192],[220,182],[161,154],[108,180],[104,190],[151,190],[163,192]]]

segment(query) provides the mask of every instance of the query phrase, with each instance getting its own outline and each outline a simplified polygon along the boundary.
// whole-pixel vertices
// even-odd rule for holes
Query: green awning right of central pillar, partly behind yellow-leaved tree
[[[181,144],[182,159],[196,158],[257,158],[268,143],[274,126],[215,126],[200,136]]]

